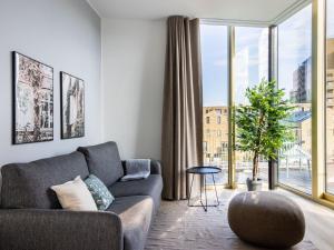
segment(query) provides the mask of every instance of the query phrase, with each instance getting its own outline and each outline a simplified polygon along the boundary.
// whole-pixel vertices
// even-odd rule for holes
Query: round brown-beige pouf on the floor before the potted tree
[[[244,241],[289,248],[304,238],[305,219],[297,203],[274,192],[243,192],[228,207],[230,229]]]

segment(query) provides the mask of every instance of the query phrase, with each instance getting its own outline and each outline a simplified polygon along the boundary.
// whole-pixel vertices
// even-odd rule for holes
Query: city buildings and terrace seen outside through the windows
[[[334,136],[334,39],[327,41],[327,81],[326,81],[326,130]],[[245,53],[246,54],[246,53]],[[247,56],[243,56],[244,59]],[[284,144],[279,151],[281,179],[294,177],[294,181],[304,181],[304,187],[311,187],[312,171],[312,110],[311,110],[311,67],[312,60],[307,58],[294,70],[293,88],[289,91],[289,101],[295,107],[288,123],[292,128],[294,140]],[[244,67],[247,79],[247,68]],[[242,87],[246,89],[245,87]],[[240,88],[239,88],[240,89]],[[240,90],[239,90],[240,91]],[[243,102],[239,99],[239,102]],[[206,164],[215,164],[223,169],[220,182],[227,182],[228,171],[228,107],[214,106],[203,108],[204,124],[204,161]],[[244,178],[252,174],[252,154],[235,152],[237,172],[244,173]],[[334,177],[334,137],[327,137],[327,174]],[[262,177],[266,180],[267,161],[262,159]],[[224,174],[225,173],[225,174]],[[328,179],[328,186],[334,187],[334,179]],[[237,180],[242,182],[242,180]],[[299,183],[302,184],[302,183]],[[306,189],[306,188],[305,188]]]

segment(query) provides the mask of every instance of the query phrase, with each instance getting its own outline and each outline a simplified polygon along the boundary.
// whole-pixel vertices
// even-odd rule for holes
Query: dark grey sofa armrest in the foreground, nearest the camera
[[[112,212],[0,209],[0,249],[122,250],[122,227]]]

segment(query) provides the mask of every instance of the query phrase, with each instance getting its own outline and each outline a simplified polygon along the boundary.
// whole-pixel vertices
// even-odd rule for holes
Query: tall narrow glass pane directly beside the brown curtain
[[[217,183],[228,182],[227,27],[200,26],[203,63],[204,163],[223,169]],[[207,180],[212,181],[210,178]]]

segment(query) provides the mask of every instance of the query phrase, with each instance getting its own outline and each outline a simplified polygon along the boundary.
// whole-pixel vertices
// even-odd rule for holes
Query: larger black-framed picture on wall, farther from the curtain
[[[12,52],[13,144],[53,140],[53,68]]]

